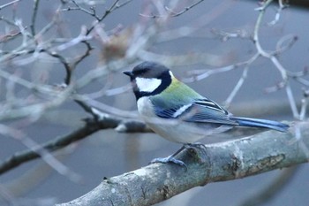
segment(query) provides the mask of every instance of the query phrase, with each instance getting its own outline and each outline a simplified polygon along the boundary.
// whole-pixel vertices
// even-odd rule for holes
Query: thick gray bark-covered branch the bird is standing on
[[[236,141],[186,149],[176,164],[150,164],[104,178],[92,191],[68,205],[151,205],[209,182],[240,179],[309,160],[309,122],[298,122],[283,134],[267,131]]]

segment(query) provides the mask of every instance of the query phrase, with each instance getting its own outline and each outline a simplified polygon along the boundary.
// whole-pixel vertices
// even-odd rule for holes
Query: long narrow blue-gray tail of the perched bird
[[[240,117],[230,117],[230,119],[236,121],[239,124],[239,126],[262,127],[262,128],[274,129],[280,132],[287,132],[290,127],[286,124],[268,119],[240,118]]]

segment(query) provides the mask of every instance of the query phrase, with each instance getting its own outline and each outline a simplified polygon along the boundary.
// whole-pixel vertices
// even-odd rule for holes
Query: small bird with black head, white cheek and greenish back
[[[177,80],[165,65],[142,62],[130,77],[139,115],[156,134],[183,147],[167,157],[151,163],[186,164],[175,156],[183,149],[201,145],[197,141],[229,131],[233,127],[258,127],[287,132],[289,126],[277,121],[234,116],[218,103]]]

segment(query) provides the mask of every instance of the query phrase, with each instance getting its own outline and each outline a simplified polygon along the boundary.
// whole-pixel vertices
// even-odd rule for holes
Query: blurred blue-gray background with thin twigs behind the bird
[[[306,101],[309,27],[305,5],[291,4],[281,11],[274,2],[260,23],[260,45],[267,52],[277,52],[275,57],[288,71],[288,80],[283,80],[280,68],[269,58],[252,60],[257,54],[252,41],[260,14],[257,1],[20,0],[1,1],[0,6],[0,163],[19,151],[71,134],[84,125],[83,119],[92,117],[71,96],[49,106],[57,98],[42,95],[33,86],[49,86],[47,91],[54,91],[63,89],[64,82],[76,83],[77,95],[94,99],[86,101],[88,105],[139,119],[122,71],[143,60],[170,66],[177,78],[237,115],[293,120],[300,118],[301,103]],[[93,48],[85,58],[81,57],[87,44],[81,37]],[[125,62],[118,64],[123,58]],[[104,67],[109,63],[111,67]],[[91,78],[83,85],[88,74]],[[31,85],[25,86],[22,80]],[[298,113],[290,109],[293,101],[286,85]],[[39,104],[44,110],[31,107]],[[22,108],[26,114],[13,115]],[[68,202],[99,185],[104,177],[138,169],[180,147],[156,134],[101,130],[52,153],[60,165],[52,168],[54,160],[40,158],[4,172],[0,205]],[[262,205],[307,205],[308,170],[307,164],[301,164],[289,171],[215,182],[158,205],[246,205],[248,198],[277,177],[283,177],[286,184]]]

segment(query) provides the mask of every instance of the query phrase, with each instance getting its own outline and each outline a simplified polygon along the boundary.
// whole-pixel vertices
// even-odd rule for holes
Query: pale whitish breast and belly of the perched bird
[[[147,97],[139,98],[137,104],[139,114],[147,123],[147,126],[168,141],[194,143],[211,134],[222,133],[230,129],[230,126],[218,126],[207,123],[200,123],[197,125],[196,123],[189,123],[181,120],[157,118],[153,112],[152,103],[150,103]]]

